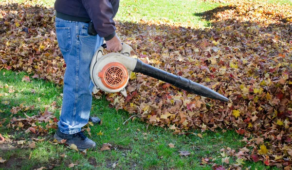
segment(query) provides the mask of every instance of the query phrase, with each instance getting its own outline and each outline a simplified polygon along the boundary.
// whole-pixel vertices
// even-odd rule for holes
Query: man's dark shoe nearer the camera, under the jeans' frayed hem
[[[89,148],[95,148],[96,144],[91,139],[86,137],[83,132],[78,132],[73,135],[68,135],[62,133],[59,128],[57,129],[54,138],[57,139],[58,142],[61,142],[62,139],[66,139],[65,144],[71,146],[74,144],[77,146],[78,151],[84,151]]]

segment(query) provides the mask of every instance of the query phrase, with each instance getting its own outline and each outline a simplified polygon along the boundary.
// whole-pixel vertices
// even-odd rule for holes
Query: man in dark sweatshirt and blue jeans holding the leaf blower
[[[55,138],[67,139],[79,151],[95,148],[96,144],[84,136],[81,128],[91,118],[93,84],[90,79],[90,63],[95,50],[105,39],[107,50],[120,51],[122,45],[115,34],[113,17],[119,8],[119,0],[56,0],[55,27],[59,48],[63,54],[66,71],[64,76],[63,103]],[[91,23],[93,27],[91,27]],[[97,35],[91,33],[96,31]]]

